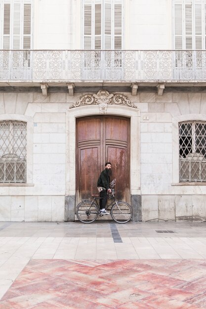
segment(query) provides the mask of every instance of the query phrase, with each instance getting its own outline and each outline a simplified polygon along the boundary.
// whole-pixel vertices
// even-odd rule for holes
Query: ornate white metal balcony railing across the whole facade
[[[0,50],[0,80],[203,80],[206,50]]]

